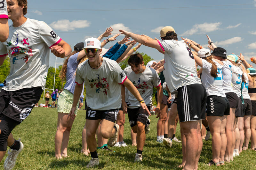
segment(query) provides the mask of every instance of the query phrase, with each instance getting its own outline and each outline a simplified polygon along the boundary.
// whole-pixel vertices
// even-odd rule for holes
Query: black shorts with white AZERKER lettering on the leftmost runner
[[[24,88],[16,91],[1,90],[0,113],[21,123],[38,103],[42,92],[42,87]]]

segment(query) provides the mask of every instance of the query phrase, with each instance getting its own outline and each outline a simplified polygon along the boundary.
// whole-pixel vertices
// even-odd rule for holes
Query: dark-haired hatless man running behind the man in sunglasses
[[[156,70],[149,68],[144,65],[143,57],[139,53],[133,54],[128,59],[129,67],[124,69],[124,73],[127,75],[127,78],[131,80],[133,85],[140,92],[141,97],[145,100],[145,104],[150,110],[150,105],[152,105],[152,93],[153,88],[157,89],[157,107],[155,109],[157,114],[160,114],[160,105],[163,97],[163,89],[161,85],[161,80],[156,73]],[[140,81],[138,81],[140,80]],[[142,150],[145,144],[146,133],[145,125],[148,121],[148,113],[144,113],[144,110],[141,108],[140,103],[133,96],[133,94],[123,89],[122,86],[122,101],[124,112],[128,113],[130,126],[134,133],[137,133],[137,153],[135,154],[134,162],[142,161]],[[124,93],[125,92],[125,93]],[[127,105],[126,105],[127,104]],[[128,109],[127,109],[128,107]],[[126,111],[127,109],[127,111]]]

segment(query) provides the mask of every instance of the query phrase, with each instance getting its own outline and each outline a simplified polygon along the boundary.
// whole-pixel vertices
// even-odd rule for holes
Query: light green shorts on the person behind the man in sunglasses
[[[66,89],[64,89],[63,92],[60,93],[60,96],[58,98],[58,113],[69,114],[73,104],[73,97],[74,95]],[[77,103],[76,105],[75,114],[77,114],[78,105],[79,103]]]

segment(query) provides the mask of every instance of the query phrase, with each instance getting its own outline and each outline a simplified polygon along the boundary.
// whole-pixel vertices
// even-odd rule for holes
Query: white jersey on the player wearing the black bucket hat
[[[232,63],[230,61],[222,61],[223,67],[222,67],[222,74],[223,74],[223,92],[234,92],[232,88]]]

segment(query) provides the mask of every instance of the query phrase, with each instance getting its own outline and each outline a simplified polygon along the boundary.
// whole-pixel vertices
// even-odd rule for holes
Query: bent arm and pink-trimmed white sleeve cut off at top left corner
[[[8,36],[9,26],[6,0],[0,0],[0,41],[6,41]]]

